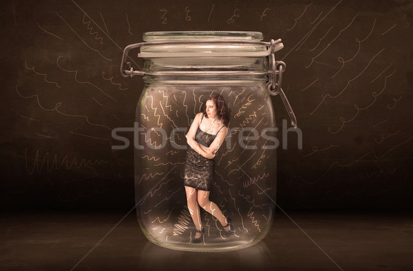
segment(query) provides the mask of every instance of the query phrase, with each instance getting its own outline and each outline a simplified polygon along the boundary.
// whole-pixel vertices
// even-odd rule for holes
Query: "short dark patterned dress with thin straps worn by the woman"
[[[218,130],[218,132],[220,130]],[[198,127],[195,134],[195,141],[205,147],[209,147],[213,140],[215,140],[218,132],[215,135],[212,135],[211,133],[205,133]],[[204,156],[189,147],[184,164],[184,186],[189,186],[202,191],[210,191],[214,173],[215,160],[204,158]]]

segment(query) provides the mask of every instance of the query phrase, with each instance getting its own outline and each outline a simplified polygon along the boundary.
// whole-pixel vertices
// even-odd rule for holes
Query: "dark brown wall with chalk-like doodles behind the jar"
[[[303,149],[290,133],[278,151],[279,206],[413,206],[412,1],[0,5],[3,208],[134,206],[133,149],[112,151],[111,130],[133,127],[143,83],[120,76],[120,59],[143,32],[169,30],[282,39]],[[280,125],[288,116],[273,105]]]

